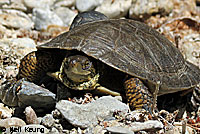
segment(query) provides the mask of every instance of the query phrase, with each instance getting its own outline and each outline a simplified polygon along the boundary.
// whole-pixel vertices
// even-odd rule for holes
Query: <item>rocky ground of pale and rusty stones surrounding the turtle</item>
[[[1,90],[7,80],[15,79],[24,55],[68,31],[77,13],[89,10],[102,12],[109,18],[143,21],[174,42],[188,61],[200,67],[199,0],[1,0]],[[23,82],[24,89],[27,89],[26,84]],[[31,92],[32,88],[41,89],[38,94],[43,95],[43,99],[35,102],[55,100],[55,94],[36,85],[27,90]],[[17,95],[20,93],[27,95],[23,91]],[[30,96],[30,100],[21,98],[21,102],[33,103]],[[97,97],[86,93],[80,98],[61,100],[42,114],[29,106],[8,107],[0,103],[0,128],[15,126],[16,131],[20,129],[23,133],[27,128],[41,133],[71,134],[200,133],[199,111],[190,118],[184,113],[179,121],[175,120],[177,111],[162,110],[160,115],[162,117],[156,115],[155,118],[145,111],[130,112],[120,97]]]

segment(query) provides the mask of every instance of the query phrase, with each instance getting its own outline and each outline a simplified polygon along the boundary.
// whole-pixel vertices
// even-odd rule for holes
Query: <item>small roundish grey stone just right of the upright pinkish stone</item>
[[[47,114],[42,118],[42,125],[44,125],[47,128],[53,127],[55,123],[55,119],[53,118],[52,114]]]

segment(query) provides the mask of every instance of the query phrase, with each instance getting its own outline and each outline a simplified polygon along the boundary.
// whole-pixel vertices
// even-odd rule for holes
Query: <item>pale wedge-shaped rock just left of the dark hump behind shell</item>
[[[72,11],[67,7],[58,7],[54,12],[62,19],[65,26],[70,26],[77,15],[75,11]]]

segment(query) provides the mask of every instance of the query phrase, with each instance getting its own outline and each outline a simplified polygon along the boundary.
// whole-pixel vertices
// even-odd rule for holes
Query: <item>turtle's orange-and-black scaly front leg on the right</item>
[[[146,109],[149,112],[153,105],[153,97],[147,87],[138,78],[130,78],[124,83],[127,102],[131,110]]]

